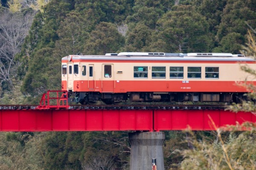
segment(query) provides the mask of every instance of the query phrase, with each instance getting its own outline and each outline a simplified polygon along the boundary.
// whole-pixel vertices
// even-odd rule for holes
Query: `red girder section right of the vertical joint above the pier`
[[[216,130],[216,127],[256,122],[256,115],[250,112],[224,110],[155,110],[154,130]]]

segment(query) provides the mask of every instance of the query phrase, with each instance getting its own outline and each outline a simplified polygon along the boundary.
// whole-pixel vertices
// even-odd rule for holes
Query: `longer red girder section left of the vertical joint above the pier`
[[[0,131],[153,130],[150,110],[2,110]]]

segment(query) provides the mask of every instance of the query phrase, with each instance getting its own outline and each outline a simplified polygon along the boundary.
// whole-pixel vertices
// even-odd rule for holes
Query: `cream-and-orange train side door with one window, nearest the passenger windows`
[[[102,92],[114,92],[113,64],[102,64]]]

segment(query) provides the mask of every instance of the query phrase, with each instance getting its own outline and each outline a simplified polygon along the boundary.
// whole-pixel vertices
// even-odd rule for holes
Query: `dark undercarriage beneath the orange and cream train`
[[[95,104],[102,101],[106,104],[120,102],[236,102],[246,99],[244,93],[210,93],[210,92],[68,92],[69,102]]]

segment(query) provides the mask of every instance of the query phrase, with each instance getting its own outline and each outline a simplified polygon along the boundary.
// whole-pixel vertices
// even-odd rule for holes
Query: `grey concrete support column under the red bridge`
[[[152,170],[152,159],[156,159],[157,170],[164,170],[163,132],[129,133],[131,143],[130,170]]]

